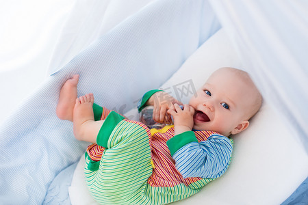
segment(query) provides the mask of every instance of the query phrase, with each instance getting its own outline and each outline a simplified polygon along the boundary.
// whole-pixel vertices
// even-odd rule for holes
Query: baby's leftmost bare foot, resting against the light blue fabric
[[[73,110],[77,98],[77,84],[79,75],[75,74],[68,79],[61,88],[59,102],[57,103],[57,117],[61,120],[73,122]]]

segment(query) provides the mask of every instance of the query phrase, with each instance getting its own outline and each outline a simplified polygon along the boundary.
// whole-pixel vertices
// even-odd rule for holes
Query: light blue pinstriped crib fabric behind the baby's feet
[[[80,74],[79,95],[93,92],[97,104],[124,113],[219,28],[208,1],[155,1],[51,75],[0,128],[1,204],[42,204],[55,176],[86,150],[55,115],[64,81]]]

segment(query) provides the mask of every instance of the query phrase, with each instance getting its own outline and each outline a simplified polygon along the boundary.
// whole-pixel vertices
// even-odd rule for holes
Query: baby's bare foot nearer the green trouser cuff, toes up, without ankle
[[[89,122],[94,122],[93,103],[94,96],[92,93],[75,100],[73,130],[76,139],[83,140],[87,135],[84,126]]]

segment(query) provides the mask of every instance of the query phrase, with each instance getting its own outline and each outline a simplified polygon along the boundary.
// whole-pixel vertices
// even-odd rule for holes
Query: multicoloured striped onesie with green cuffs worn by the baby
[[[211,131],[175,135],[173,125],[149,129],[105,107],[97,144],[88,147],[86,182],[101,204],[168,204],[194,195],[221,176],[233,140]]]

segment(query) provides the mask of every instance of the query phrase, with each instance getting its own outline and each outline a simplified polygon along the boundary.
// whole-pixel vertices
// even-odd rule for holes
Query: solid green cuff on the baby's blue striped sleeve
[[[175,152],[177,152],[181,147],[193,141],[198,142],[193,131],[187,131],[169,139],[167,141],[167,146],[170,150],[171,156],[173,156],[173,154],[175,154]]]

